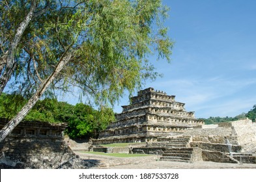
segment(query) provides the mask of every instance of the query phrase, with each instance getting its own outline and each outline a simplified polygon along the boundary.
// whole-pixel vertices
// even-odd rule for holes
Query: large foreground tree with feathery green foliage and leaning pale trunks
[[[98,105],[113,104],[158,73],[149,55],[170,59],[173,42],[160,0],[0,2],[0,93],[28,99],[5,136],[43,95],[76,86]]]

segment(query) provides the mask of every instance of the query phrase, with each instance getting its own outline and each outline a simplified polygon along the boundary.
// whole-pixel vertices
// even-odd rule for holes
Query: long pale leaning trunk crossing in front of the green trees
[[[42,96],[42,94],[44,93],[46,88],[48,88],[48,86],[52,83],[52,81],[55,79],[55,77],[57,77],[59,72],[61,72],[61,70],[63,69],[65,64],[71,58],[72,58],[72,53],[66,55],[66,57],[63,57],[63,59],[61,59],[59,61],[59,63],[57,64],[57,66],[54,70],[54,72],[51,73],[51,75],[50,75],[50,77],[48,77],[48,79],[46,79],[45,81],[43,81],[40,84],[38,90],[36,90],[35,94],[32,96],[31,99],[29,99],[27,104],[20,110],[20,112],[18,112],[18,114],[14,118],[12,118],[12,120],[10,120],[10,122],[8,122],[3,127],[3,129],[1,129],[1,131],[0,131],[0,142],[3,142],[3,140],[5,140],[5,138],[7,137],[7,135],[9,135],[10,132],[12,132],[14,127],[16,127],[16,125],[18,125],[18,123],[20,123],[21,120],[23,120],[23,118],[27,115],[29,110],[31,110],[32,107],[35,105],[35,103],[38,101],[40,96]]]

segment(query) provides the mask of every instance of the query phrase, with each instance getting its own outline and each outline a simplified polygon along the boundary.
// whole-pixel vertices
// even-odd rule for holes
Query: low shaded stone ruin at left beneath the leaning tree
[[[2,128],[7,120],[0,118]],[[64,143],[66,124],[21,122],[1,143],[1,168],[87,168]]]

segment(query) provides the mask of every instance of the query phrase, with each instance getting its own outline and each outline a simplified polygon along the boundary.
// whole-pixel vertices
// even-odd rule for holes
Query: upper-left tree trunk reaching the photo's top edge
[[[10,77],[12,76],[12,73],[14,72],[16,68],[16,63],[14,60],[14,53],[15,49],[20,42],[20,38],[23,35],[23,32],[27,28],[27,25],[29,25],[29,22],[33,18],[33,14],[36,9],[36,2],[35,0],[31,2],[31,7],[29,10],[29,13],[25,17],[25,19],[20,23],[20,26],[18,27],[16,34],[14,36],[14,39],[12,40],[12,44],[10,45],[10,48],[8,49],[8,55],[7,60],[5,61],[5,70],[3,71],[3,75],[1,75],[0,72],[0,94],[3,92],[3,89],[7,85],[7,82],[9,81]],[[4,57],[3,57],[4,59]],[[1,70],[2,71],[2,70]]]

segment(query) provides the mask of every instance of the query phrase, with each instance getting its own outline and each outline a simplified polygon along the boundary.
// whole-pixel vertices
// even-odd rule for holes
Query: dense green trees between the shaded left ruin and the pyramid
[[[20,95],[1,94],[0,117],[10,120],[26,102]],[[106,129],[109,122],[115,120],[115,114],[112,109],[106,107],[96,110],[83,103],[70,105],[57,99],[46,98],[38,101],[24,120],[68,123],[66,134],[70,138],[85,138],[97,137],[99,131]]]

